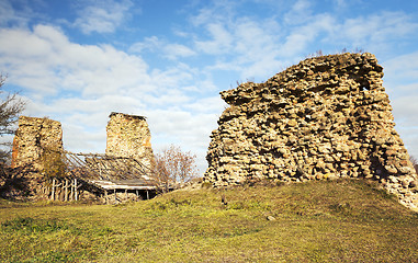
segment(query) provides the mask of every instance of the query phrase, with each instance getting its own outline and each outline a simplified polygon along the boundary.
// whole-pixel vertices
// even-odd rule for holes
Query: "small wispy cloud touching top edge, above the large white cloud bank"
[[[132,1],[88,1],[78,13],[74,25],[79,27],[82,33],[113,33],[116,27],[122,25],[124,20],[129,16]]]

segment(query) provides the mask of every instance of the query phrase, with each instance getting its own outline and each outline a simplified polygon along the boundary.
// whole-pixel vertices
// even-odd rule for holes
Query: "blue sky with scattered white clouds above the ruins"
[[[60,121],[68,150],[104,152],[111,112],[148,117],[206,168],[219,91],[323,50],[373,53],[396,129],[418,157],[418,1],[0,0],[4,89]],[[10,138],[3,138],[10,139]]]

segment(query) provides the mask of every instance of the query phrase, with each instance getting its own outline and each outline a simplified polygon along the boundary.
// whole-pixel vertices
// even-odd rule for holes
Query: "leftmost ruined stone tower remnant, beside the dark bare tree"
[[[12,167],[32,163],[42,170],[44,149],[63,150],[61,124],[49,118],[21,116],[13,139]]]

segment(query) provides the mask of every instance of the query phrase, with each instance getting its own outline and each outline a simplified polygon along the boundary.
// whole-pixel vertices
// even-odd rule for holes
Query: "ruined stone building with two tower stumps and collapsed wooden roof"
[[[21,116],[13,139],[12,168],[30,167],[27,188],[35,198],[56,199],[60,194],[66,197],[59,199],[68,201],[72,184],[75,199],[81,191],[108,195],[112,190],[116,196],[116,191],[124,190],[127,196],[128,190],[138,195],[138,191],[155,188],[147,176],[154,153],[145,117],[112,113],[106,130],[105,155],[72,153],[64,150],[59,122]],[[55,186],[63,191],[57,193]]]

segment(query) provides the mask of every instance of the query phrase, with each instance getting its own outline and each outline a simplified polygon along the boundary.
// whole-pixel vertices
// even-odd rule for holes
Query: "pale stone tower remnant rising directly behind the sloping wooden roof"
[[[106,155],[135,158],[151,167],[151,134],[145,117],[111,113],[110,118],[106,127]]]

